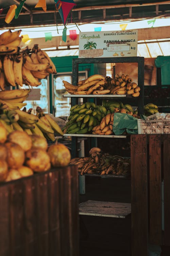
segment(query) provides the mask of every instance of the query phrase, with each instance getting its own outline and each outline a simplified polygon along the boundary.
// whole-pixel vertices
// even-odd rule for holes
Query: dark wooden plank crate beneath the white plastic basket
[[[132,256],[148,255],[148,243],[170,246],[169,152],[170,134],[131,136]]]

